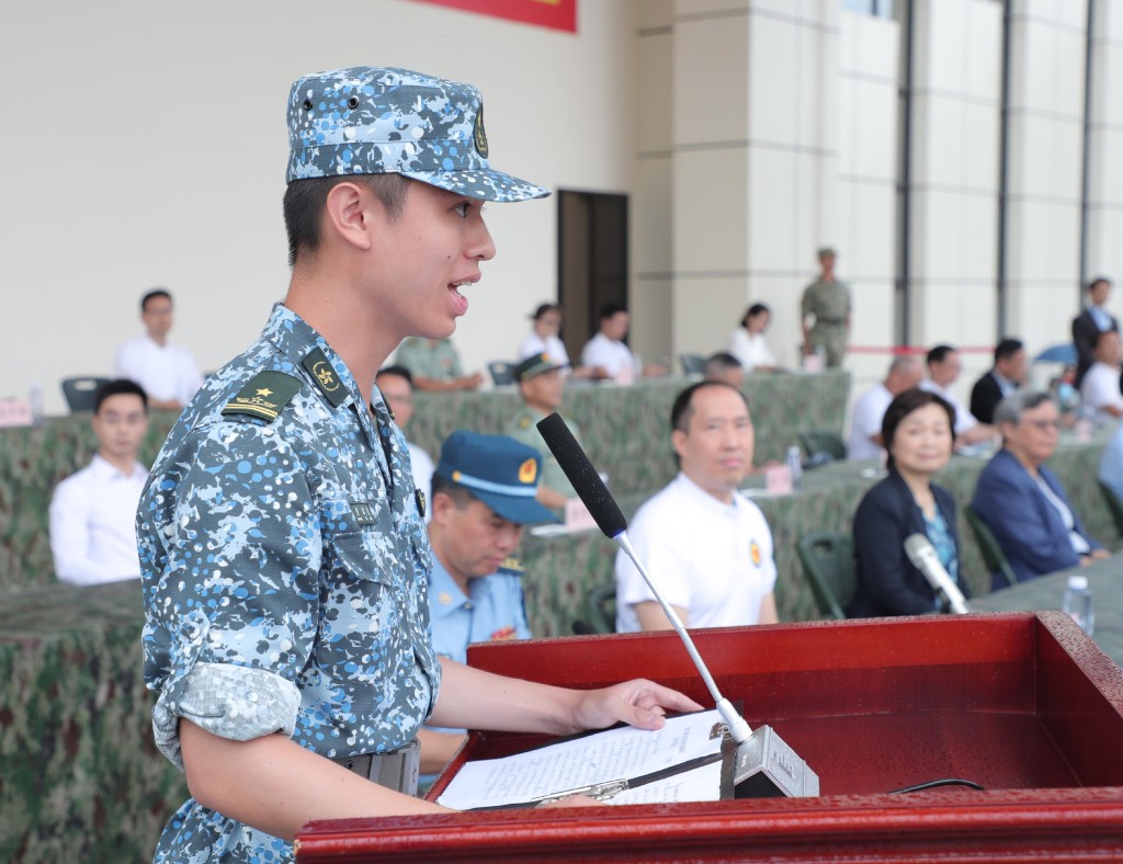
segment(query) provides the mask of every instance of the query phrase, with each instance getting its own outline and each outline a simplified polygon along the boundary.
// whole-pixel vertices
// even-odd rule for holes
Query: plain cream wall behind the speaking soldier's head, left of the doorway
[[[241,350],[287,285],[285,102],[299,75],[400,65],[484,94],[493,164],[551,189],[627,191],[631,2],[583,2],[578,35],[404,0],[10,4],[0,238],[0,396],[107,374],[137,301],[176,298],[204,369]],[[466,366],[514,353],[556,295],[553,200],[489,208],[499,256],[456,336]],[[509,346],[509,347],[508,347]]]

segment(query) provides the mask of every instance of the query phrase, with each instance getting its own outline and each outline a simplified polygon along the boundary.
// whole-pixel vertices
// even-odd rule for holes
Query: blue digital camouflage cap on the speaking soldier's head
[[[354,66],[296,81],[289,147],[289,183],[396,173],[485,201],[550,194],[487,165],[478,90],[403,68]]]

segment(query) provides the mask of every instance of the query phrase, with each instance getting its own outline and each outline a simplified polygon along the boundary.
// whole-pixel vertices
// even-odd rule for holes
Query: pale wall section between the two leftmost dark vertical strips
[[[914,344],[961,349],[966,404],[996,341],[1002,4],[914,9],[910,332]]]

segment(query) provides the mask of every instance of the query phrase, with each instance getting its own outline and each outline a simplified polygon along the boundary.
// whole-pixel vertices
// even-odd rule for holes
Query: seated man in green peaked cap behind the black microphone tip
[[[538,485],[538,500],[547,507],[564,507],[568,498],[576,498],[573,485],[558,465],[558,460],[546,447],[538,432],[538,421],[557,411],[565,392],[562,369],[545,353],[528,357],[514,369],[519,384],[522,407],[504,430],[508,435],[527,447],[532,447],[542,458],[542,480]],[[569,417],[563,415],[573,436],[581,442],[581,430]]]

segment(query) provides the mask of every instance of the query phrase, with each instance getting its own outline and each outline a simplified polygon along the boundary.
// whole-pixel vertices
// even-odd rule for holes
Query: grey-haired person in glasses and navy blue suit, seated
[[[1057,448],[1059,420],[1048,393],[1020,389],[995,408],[1003,449],[979,475],[971,507],[994,533],[1024,582],[1108,553],[1093,540],[1046,460]],[[1002,588],[999,579],[992,588]]]

